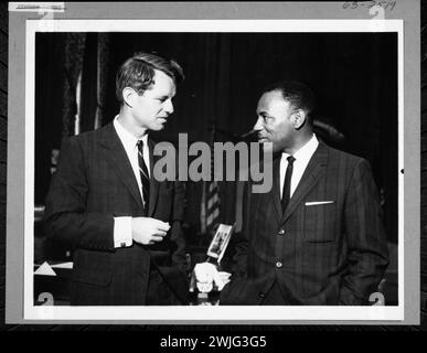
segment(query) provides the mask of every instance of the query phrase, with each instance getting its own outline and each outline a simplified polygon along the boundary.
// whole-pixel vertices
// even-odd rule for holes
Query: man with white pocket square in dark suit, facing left
[[[377,289],[388,260],[371,168],[317,139],[313,108],[297,82],[269,86],[258,100],[254,130],[273,151],[274,182],[264,194],[246,185],[222,304],[361,306]]]

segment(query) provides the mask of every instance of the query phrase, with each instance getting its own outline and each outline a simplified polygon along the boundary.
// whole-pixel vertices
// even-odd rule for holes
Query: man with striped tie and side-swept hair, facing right
[[[120,111],[105,127],[66,139],[46,197],[45,232],[74,249],[77,306],[186,301],[183,185],[159,182],[148,139],[173,113],[180,65],[138,53],[118,69]]]

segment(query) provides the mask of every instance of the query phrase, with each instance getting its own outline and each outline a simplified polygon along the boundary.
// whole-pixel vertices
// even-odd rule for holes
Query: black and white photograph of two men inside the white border
[[[196,306],[193,268],[236,223],[218,307],[398,308],[398,23],[85,24],[34,33],[34,306]],[[182,135],[270,142],[270,190],[194,181],[191,163],[188,181],[156,181],[154,142]]]

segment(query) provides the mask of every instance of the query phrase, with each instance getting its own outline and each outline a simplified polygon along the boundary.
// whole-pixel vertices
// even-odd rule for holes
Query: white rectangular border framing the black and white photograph
[[[398,173],[398,304],[394,307],[47,307],[34,306],[34,72],[38,32],[396,32],[398,45],[398,171],[404,169],[403,20],[26,20],[23,319],[146,323],[282,323],[286,321],[395,321],[405,319],[404,176]],[[206,318],[210,318],[206,320]]]

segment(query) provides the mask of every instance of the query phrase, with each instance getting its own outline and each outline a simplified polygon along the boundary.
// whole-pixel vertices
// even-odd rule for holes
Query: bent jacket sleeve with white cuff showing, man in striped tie
[[[63,142],[47,192],[44,232],[72,248],[114,250],[114,216],[87,212],[87,193],[84,152],[79,140],[71,137]]]

